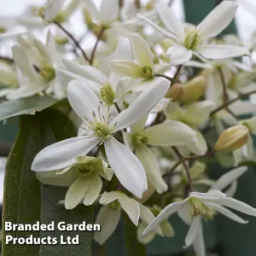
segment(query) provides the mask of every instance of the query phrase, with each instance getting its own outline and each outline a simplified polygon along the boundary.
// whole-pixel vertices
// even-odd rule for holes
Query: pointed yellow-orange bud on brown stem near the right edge
[[[249,137],[249,131],[244,125],[232,126],[225,130],[215,144],[217,151],[233,151],[241,148]]]

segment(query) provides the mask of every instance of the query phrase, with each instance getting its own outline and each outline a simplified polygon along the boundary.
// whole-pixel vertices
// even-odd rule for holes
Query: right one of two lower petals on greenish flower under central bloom
[[[88,178],[88,189],[84,196],[84,205],[92,205],[102,190],[102,179],[98,175]]]

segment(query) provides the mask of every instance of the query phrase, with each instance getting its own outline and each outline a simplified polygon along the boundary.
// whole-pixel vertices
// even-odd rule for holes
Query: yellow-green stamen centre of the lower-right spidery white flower
[[[214,210],[211,207],[208,207],[198,198],[189,199],[189,207],[192,216],[201,215],[206,219],[212,219],[215,214]]]

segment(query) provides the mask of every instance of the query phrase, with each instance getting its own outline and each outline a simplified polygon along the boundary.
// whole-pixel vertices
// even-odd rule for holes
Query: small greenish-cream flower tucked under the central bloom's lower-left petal
[[[111,180],[113,171],[102,158],[90,156],[76,157],[76,163],[57,174],[65,172],[76,172],[79,177],[71,184],[65,197],[66,209],[73,209],[80,201],[85,206],[92,205],[100,195],[102,189],[102,178]]]

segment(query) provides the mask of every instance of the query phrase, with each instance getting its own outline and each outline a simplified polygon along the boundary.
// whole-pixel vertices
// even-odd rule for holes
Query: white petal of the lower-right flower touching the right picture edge
[[[231,209],[236,210],[237,212],[242,212],[247,215],[256,217],[256,209],[247,205],[242,201],[238,201],[235,198],[224,197],[220,198],[216,203],[223,205],[224,207],[229,207]]]

